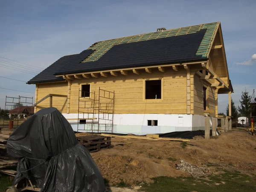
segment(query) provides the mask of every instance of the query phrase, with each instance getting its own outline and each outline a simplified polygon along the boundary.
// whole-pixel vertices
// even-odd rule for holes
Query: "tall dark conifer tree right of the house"
[[[248,119],[250,119],[251,113],[250,101],[249,93],[245,90],[245,92],[242,92],[241,100],[239,100],[241,106],[238,106],[238,111],[241,115],[248,117]]]

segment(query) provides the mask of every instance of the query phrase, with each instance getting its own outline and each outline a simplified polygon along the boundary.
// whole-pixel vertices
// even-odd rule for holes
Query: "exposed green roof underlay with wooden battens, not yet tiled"
[[[220,22],[207,23],[207,24],[201,24],[201,25],[195,25],[195,26],[189,26],[189,27],[181,27],[177,29],[169,29],[169,30],[164,30],[159,32],[145,33],[141,35],[133,35],[133,36],[123,37],[123,38],[116,38],[116,39],[111,39],[107,41],[99,41],[88,48],[88,49],[93,49],[95,51],[92,54],[90,54],[87,58],[85,58],[84,61],[82,62],[98,60],[114,45],[128,44],[131,42],[138,42],[138,41],[147,41],[150,39],[166,38],[166,37],[177,36],[177,35],[186,35],[186,34],[198,32],[201,29],[207,29],[207,31],[204,35],[203,40],[201,41],[201,44],[198,48],[196,55],[202,55],[202,57],[207,57],[210,51],[210,47],[212,45],[214,36],[218,30],[219,24]]]

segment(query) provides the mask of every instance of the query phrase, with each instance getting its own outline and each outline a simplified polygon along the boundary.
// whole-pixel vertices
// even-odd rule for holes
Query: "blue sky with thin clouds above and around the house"
[[[229,0],[1,0],[0,57],[29,64],[23,73],[5,68],[20,63],[0,58],[0,76],[28,81],[31,72],[48,67],[63,55],[79,53],[96,41],[221,21],[233,100],[256,88],[256,1]],[[9,61],[9,62],[6,62]],[[5,62],[5,63],[3,63]],[[6,64],[7,63],[7,64]],[[16,65],[13,65],[16,64]],[[40,68],[41,67],[41,68]],[[0,77],[0,107],[5,96],[34,96],[35,85]],[[228,95],[219,96],[224,112]]]

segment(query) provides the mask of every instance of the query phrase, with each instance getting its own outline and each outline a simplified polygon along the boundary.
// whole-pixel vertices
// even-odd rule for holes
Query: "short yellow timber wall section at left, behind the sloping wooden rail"
[[[44,98],[48,94],[67,95],[67,82],[44,83],[37,84],[38,86],[38,99]],[[36,102],[37,102],[36,101]],[[36,111],[49,107],[49,98],[36,106]],[[52,97],[52,107],[57,108],[61,113],[67,113],[67,98],[65,97]]]

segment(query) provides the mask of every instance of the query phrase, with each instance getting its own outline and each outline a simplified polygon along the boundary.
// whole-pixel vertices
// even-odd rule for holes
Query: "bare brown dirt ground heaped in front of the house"
[[[184,148],[181,142],[168,140],[112,137],[111,142],[129,144],[91,153],[110,185],[124,182],[131,186],[140,186],[143,183],[152,183],[152,177],[189,176],[188,173],[175,169],[175,164],[180,160],[207,167],[208,174],[221,169],[256,173],[256,136],[251,136],[246,131],[230,131],[210,140],[196,136],[188,142],[192,145],[183,146]]]

